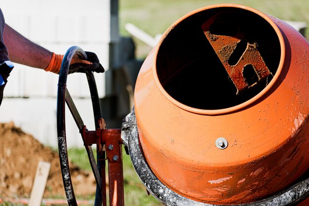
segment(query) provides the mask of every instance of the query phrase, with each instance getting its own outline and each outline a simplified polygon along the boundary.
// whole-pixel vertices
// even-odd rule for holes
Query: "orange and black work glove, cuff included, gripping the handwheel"
[[[69,74],[75,72],[84,72],[84,69],[89,69],[97,73],[104,72],[104,68],[100,64],[97,55],[89,51],[86,51],[85,53],[87,54],[87,59],[89,61],[80,59],[78,58],[77,54],[75,54],[70,63]],[[51,60],[45,71],[59,74],[63,57],[63,54],[55,54],[53,52]]]

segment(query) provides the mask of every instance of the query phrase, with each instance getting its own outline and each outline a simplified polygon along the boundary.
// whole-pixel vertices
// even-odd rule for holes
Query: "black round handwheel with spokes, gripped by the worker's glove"
[[[57,93],[57,134],[58,134],[58,147],[59,147],[59,159],[60,159],[60,166],[62,172],[62,179],[65,188],[65,193],[67,196],[69,206],[77,206],[77,201],[75,198],[71,174],[70,174],[70,167],[68,161],[68,151],[67,151],[67,140],[66,140],[66,121],[65,121],[65,104],[67,104],[68,108],[71,111],[71,114],[77,124],[79,132],[84,141],[84,145],[88,154],[89,162],[95,176],[97,182],[97,190],[96,190],[96,199],[95,199],[95,206],[102,205],[103,196],[106,196],[105,188],[102,190],[102,180],[104,178],[105,183],[105,154],[100,153],[100,148],[97,149],[97,160],[95,161],[91,144],[87,144],[84,138],[84,131],[87,131],[83,121],[77,111],[77,108],[74,104],[74,101],[68,91],[67,88],[67,77],[68,71],[70,67],[70,62],[73,56],[77,54],[82,59],[87,59],[86,53],[78,46],[70,47],[66,54],[64,55],[61,70],[59,73],[59,82],[58,82],[58,93]],[[104,129],[105,124],[104,120],[101,117],[101,108],[100,108],[100,100],[98,96],[98,91],[96,87],[96,82],[94,79],[93,72],[85,70],[84,73],[86,74],[88,85],[90,89],[90,95],[92,100],[92,107],[94,113],[94,122],[96,130]],[[97,147],[100,145],[97,144]],[[101,173],[102,171],[102,173]]]

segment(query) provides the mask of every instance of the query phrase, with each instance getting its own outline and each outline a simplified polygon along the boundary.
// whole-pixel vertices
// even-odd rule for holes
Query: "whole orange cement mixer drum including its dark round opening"
[[[176,21],[135,87],[140,147],[172,191],[254,202],[309,168],[309,44],[285,22],[218,4]]]

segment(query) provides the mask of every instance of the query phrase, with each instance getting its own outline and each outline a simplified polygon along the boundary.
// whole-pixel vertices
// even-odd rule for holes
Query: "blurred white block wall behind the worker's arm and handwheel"
[[[28,39],[60,54],[64,54],[70,46],[78,45],[85,51],[95,52],[108,70],[118,62],[110,58],[111,45],[119,41],[117,4],[113,3],[117,0],[112,4],[110,0],[7,0],[1,2],[1,9],[6,23]],[[13,121],[40,142],[56,147],[58,75],[14,65],[4,90],[0,122]],[[106,90],[105,76],[95,75],[100,98],[109,92]],[[85,75],[70,75],[68,89],[75,97],[84,123],[93,129]],[[82,146],[71,115],[66,117],[67,132],[70,134],[68,146]]]

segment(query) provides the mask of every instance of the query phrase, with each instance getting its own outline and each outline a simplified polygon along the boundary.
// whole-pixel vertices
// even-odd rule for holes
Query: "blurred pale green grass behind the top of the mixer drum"
[[[243,4],[279,19],[304,21],[309,26],[309,0],[119,0],[120,34],[129,36],[124,29],[126,23],[132,23],[152,36],[162,34],[186,13],[216,3]],[[309,29],[306,36],[308,39]],[[146,57],[151,47],[137,39],[134,41],[137,57]]]

